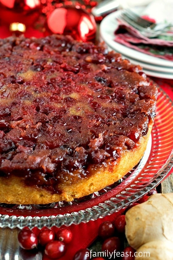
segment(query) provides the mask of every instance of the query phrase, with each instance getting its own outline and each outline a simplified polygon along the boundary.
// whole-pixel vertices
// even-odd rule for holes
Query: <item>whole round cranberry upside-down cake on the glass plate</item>
[[[141,159],[157,88],[140,66],[70,36],[0,40],[0,202],[71,201]]]

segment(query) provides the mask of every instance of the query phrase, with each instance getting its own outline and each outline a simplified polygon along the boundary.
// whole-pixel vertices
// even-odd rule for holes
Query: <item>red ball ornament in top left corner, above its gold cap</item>
[[[0,0],[1,24],[32,25],[40,15],[41,0]]]

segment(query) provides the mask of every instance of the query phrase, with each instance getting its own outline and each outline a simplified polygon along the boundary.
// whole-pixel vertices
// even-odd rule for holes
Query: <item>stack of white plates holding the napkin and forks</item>
[[[133,64],[141,65],[148,76],[173,79],[173,61],[144,54],[114,41],[114,32],[118,26],[116,17],[120,15],[120,12],[121,10],[113,12],[102,20],[99,40],[104,41],[109,50],[121,53],[124,59],[130,60]]]

